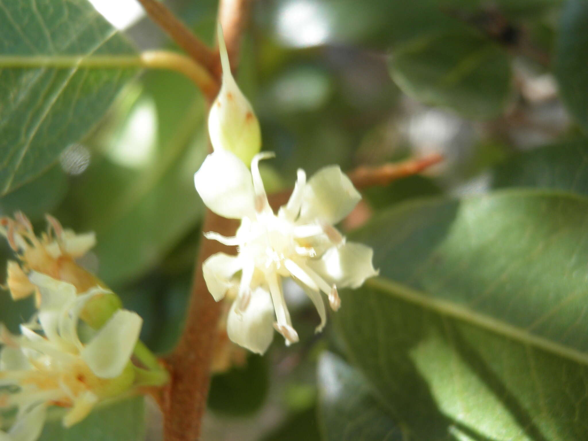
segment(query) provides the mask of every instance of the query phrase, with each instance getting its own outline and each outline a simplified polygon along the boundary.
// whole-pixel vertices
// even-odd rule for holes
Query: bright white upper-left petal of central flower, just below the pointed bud
[[[255,215],[255,192],[251,172],[233,153],[217,150],[194,175],[202,201],[219,216],[240,219]]]

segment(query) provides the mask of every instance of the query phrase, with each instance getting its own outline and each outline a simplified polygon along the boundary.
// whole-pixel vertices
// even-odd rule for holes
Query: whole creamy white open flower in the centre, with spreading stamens
[[[249,171],[235,155],[218,150],[207,156],[194,176],[196,190],[208,208],[220,216],[241,219],[234,237],[205,233],[206,238],[238,246],[238,255],[216,253],[206,259],[202,270],[215,300],[228,292],[236,295],[228,318],[229,338],[257,353],[265,352],[272,342],[272,324],[287,345],[298,341],[282,278],[293,278],[312,300],[320,316],[319,332],[326,322],[320,293],[337,310],[338,287],[358,288],[377,274],[372,249],[346,243],[333,227],[361,199],[339,167],[325,167],[308,182],[305,172],[299,170],[290,200],[275,215],[258,167],[260,159],[269,156],[273,154],[256,155]],[[233,278],[238,272],[236,283]]]

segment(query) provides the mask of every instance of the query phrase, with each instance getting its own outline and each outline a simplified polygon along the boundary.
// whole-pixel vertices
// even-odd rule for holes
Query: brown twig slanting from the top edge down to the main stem
[[[198,39],[186,25],[184,25],[163,3],[157,0],[139,0],[143,8],[191,58],[198,64],[202,65],[206,71],[216,76],[216,65],[218,64],[218,54],[206,46]]]

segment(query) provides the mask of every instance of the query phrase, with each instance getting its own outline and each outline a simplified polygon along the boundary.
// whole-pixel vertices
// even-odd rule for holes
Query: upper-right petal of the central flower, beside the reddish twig
[[[322,168],[305,185],[300,220],[333,225],[345,218],[361,199],[338,165]]]

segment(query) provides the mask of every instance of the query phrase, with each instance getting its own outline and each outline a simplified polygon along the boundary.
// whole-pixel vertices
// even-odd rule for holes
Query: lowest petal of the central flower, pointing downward
[[[245,310],[237,312],[238,300],[230,307],[227,334],[232,342],[263,354],[273,339],[273,304],[267,290],[258,287],[251,293]]]

